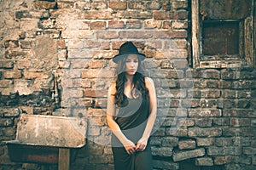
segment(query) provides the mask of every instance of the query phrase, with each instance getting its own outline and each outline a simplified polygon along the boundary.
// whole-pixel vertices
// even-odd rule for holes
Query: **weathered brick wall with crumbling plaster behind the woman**
[[[22,167],[3,143],[15,139],[20,113],[88,118],[72,169],[113,169],[106,92],[111,58],[127,40],[147,54],[157,88],[155,169],[256,167],[256,71],[191,68],[188,0],[0,4],[0,169]]]

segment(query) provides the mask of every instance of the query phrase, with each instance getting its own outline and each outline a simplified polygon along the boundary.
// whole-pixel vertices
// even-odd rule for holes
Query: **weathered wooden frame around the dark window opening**
[[[200,16],[200,4],[199,0],[191,0],[191,12],[192,12],[192,59],[194,68],[236,68],[243,65],[251,65],[256,67],[256,57],[254,48],[256,31],[255,25],[255,4],[252,1],[253,8],[252,13],[243,22],[243,34],[241,35],[243,45],[240,49],[240,57],[237,59],[216,59],[207,60],[202,59],[201,48],[201,16]]]

